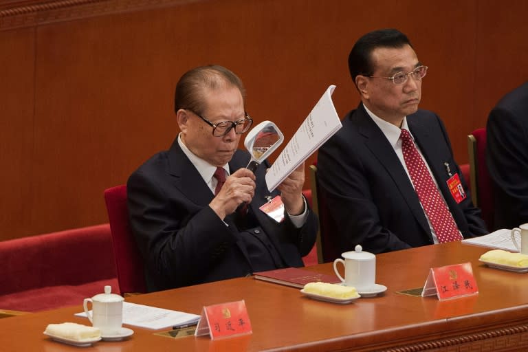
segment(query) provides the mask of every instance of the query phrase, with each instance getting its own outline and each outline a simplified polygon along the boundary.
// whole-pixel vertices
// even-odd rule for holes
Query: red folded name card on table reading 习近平
[[[252,333],[244,300],[203,307],[195,336],[228,338]]]

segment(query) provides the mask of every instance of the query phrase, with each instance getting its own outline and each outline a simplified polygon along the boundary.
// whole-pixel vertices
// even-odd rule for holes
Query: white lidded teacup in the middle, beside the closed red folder
[[[369,291],[376,282],[376,256],[363,252],[361,245],[355,246],[355,251],[341,254],[343,259],[333,261],[333,271],[346,286],[353,286],[358,292]],[[344,266],[344,278],[339,274],[338,263]]]

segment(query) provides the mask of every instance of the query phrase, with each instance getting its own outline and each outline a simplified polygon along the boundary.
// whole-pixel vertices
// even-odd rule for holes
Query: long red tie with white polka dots
[[[462,236],[456,227],[453,217],[445,204],[437,185],[434,184],[431,174],[423,162],[421,155],[412,142],[409,131],[401,129],[401,151],[407,170],[415,185],[415,190],[420,199],[421,206],[426,211],[434,233],[440,243],[460,241]]]

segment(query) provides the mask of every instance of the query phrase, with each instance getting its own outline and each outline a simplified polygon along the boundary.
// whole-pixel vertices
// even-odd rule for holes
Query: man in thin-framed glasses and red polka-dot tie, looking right
[[[362,36],[349,55],[361,96],[319,150],[321,196],[338,249],[373,253],[487,233],[437,115],[418,110],[428,67],[397,30]]]

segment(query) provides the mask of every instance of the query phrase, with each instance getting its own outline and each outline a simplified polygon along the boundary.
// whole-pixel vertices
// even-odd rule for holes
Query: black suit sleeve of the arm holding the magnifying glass
[[[158,282],[195,283],[235,242],[210,207],[190,209],[174,188],[164,189],[141,172],[131,175],[127,192],[131,228],[146,270],[161,278]]]

